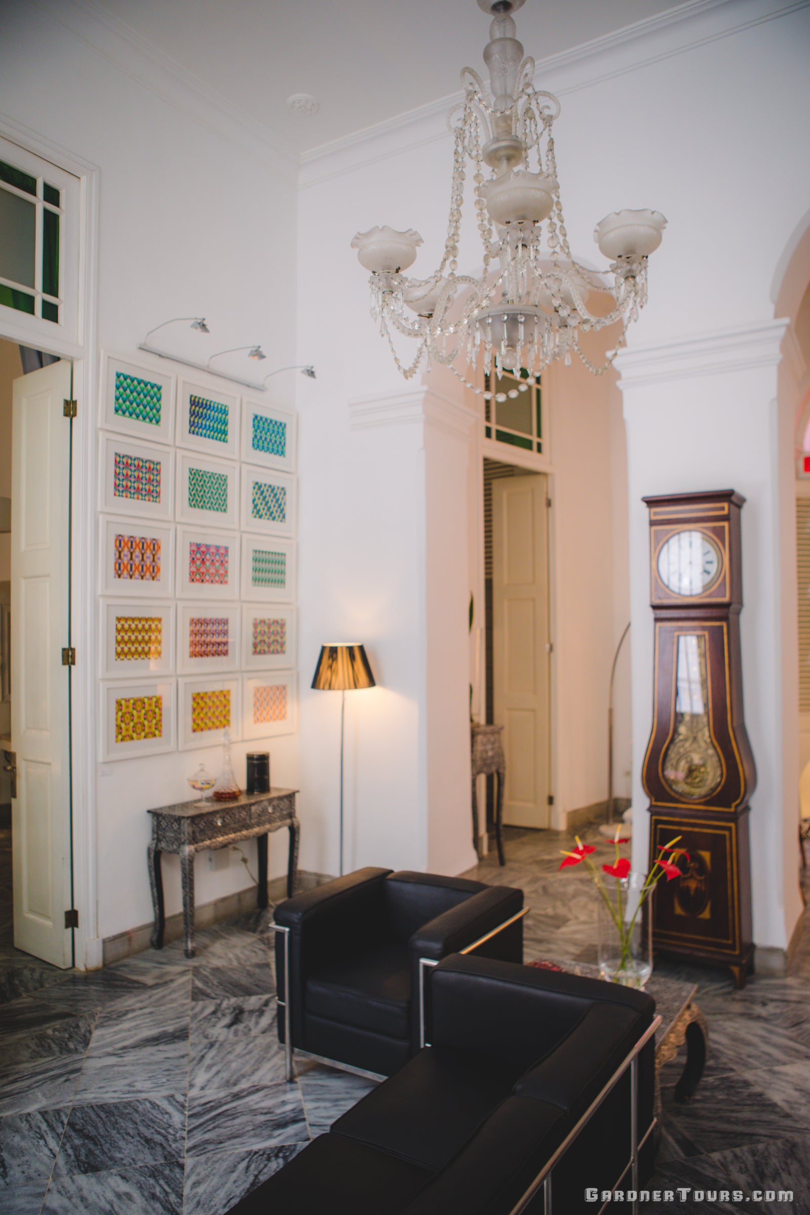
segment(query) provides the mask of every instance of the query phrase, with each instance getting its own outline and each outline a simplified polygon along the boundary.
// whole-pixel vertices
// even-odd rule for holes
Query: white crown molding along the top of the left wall
[[[267,128],[232,106],[192,72],[136,30],[104,11],[96,0],[35,0],[49,21],[58,22],[145,89],[192,122],[264,162],[298,185],[299,162],[279,148]]]

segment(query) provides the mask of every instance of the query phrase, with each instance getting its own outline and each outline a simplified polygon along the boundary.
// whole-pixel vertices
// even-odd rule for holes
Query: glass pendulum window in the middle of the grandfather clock
[[[679,634],[676,669],[675,728],[661,767],[675,797],[698,802],[723,782],[723,762],[709,729],[704,633]]]

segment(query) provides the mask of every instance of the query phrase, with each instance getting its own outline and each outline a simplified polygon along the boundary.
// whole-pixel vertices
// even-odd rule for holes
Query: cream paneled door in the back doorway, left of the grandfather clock
[[[549,825],[545,476],[492,482],[494,720],[504,728],[504,823]]]

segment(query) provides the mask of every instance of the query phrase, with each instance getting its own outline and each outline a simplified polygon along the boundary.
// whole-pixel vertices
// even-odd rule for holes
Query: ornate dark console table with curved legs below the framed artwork
[[[300,825],[295,816],[294,789],[271,789],[268,793],[240,793],[232,802],[177,802],[149,810],[149,883],[154,906],[152,944],[163,949],[165,911],[160,855],[180,854],[183,892],[183,929],[186,957],[194,956],[194,854],[204,848],[227,848],[238,840],[256,840],[259,850],[257,906],[267,906],[267,835],[289,827],[290,849],[287,866],[287,894],[295,893]]]

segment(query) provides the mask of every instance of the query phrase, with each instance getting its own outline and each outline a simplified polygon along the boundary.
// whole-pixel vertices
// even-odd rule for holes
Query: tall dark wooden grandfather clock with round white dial
[[[655,616],[652,733],[642,781],[650,855],[681,836],[682,876],[656,889],[653,944],[750,971],[748,799],[757,784],[742,710],[740,510],[733,490],[645,498]]]

